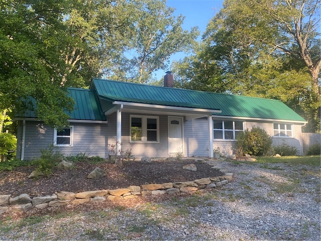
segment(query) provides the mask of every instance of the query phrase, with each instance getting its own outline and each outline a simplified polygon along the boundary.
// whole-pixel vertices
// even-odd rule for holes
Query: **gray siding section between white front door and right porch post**
[[[190,119],[184,122],[185,154],[192,156],[209,156],[209,131],[208,119]]]

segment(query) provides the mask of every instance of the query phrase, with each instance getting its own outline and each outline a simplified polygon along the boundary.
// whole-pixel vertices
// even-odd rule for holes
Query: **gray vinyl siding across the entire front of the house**
[[[137,113],[133,113],[136,114]],[[130,143],[130,113],[122,113],[122,150],[130,150],[136,158],[148,157],[168,157],[168,115],[154,115],[159,117],[159,143]],[[88,156],[108,157],[108,144],[116,143],[116,113],[107,116],[107,123],[70,123],[74,128],[73,147],[58,147],[64,155],[77,155],[85,153]],[[265,122],[244,122],[245,129],[252,129],[253,126],[260,127],[273,135],[273,123]],[[290,123],[289,123],[290,124]],[[184,121],[184,156],[208,156],[209,130],[207,117],[190,119]],[[213,131],[213,130],[211,130]],[[22,153],[22,132],[23,121],[18,122],[17,132],[17,158],[21,158]],[[40,157],[41,149],[46,149],[54,142],[54,129],[41,122],[26,121],[25,152],[24,159],[32,160]],[[293,125],[293,138],[273,137],[273,145],[295,146],[298,155],[302,155],[301,126]],[[212,148],[220,148],[224,156],[234,154],[235,141],[213,141]]]

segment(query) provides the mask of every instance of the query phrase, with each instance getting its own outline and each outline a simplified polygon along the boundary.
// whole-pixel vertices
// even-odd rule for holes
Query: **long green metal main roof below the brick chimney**
[[[278,119],[293,122],[305,120],[279,100],[220,94],[188,89],[93,79],[91,89],[100,98],[167,106],[220,109],[213,115]]]

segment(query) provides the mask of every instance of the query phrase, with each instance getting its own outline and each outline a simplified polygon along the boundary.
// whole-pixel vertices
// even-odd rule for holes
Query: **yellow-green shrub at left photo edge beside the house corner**
[[[0,161],[16,156],[17,138],[10,133],[0,133]]]

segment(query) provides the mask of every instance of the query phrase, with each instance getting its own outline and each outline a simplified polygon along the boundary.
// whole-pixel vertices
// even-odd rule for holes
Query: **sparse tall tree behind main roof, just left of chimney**
[[[116,58],[113,78],[146,83],[155,70],[168,67],[174,53],[188,51],[199,35],[198,28],[182,29],[183,16],[173,16],[166,1],[137,0],[130,43],[121,58]]]

